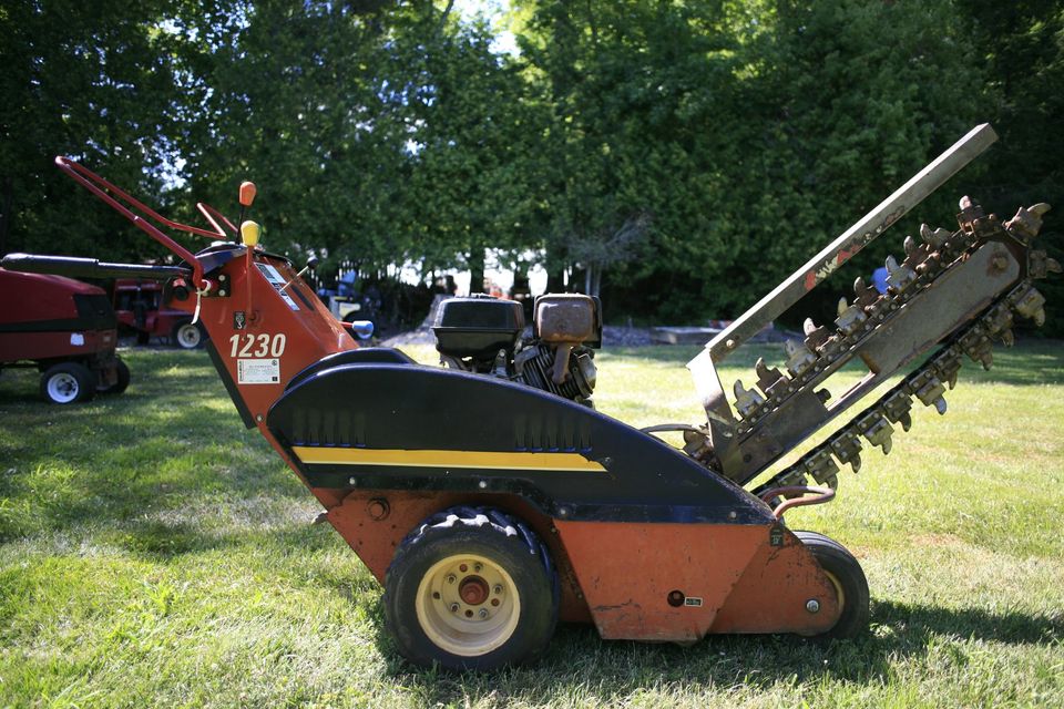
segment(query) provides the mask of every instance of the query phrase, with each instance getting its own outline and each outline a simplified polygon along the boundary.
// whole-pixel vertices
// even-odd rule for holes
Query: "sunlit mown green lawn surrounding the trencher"
[[[430,362],[429,348],[409,348]],[[600,353],[600,410],[699,421],[696,348]],[[751,379],[753,350],[725,369]],[[0,707],[1064,706],[1064,347],[970,362],[838,500],[788,515],[861,561],[872,628],[821,646],[603,641],[562,627],[536,666],[419,671],[380,588],[244,430],[203,352],[129,351],[86,405],[0,378]],[[708,572],[712,573],[712,572]]]

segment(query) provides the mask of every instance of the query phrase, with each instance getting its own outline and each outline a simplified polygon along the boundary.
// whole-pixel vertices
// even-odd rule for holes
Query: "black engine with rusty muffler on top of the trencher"
[[[548,294],[532,306],[525,337],[520,302],[487,295],[449,298],[440,304],[436,349],[444,366],[500,377],[593,405],[594,350],[602,346],[597,298]]]

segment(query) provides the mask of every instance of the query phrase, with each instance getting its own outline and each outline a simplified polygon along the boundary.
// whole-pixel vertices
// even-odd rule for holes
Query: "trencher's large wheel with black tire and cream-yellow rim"
[[[482,625],[472,612],[480,608],[478,614],[487,614],[489,602],[451,610],[449,619],[447,609],[441,609],[448,606],[448,599],[432,592],[433,579],[464,556],[484,562],[484,577],[503,569],[505,586],[493,588],[504,588],[504,599],[515,598],[515,603],[503,600],[493,612],[499,616],[480,621]],[[467,579],[479,577],[470,573],[457,583],[453,575],[447,578],[458,589]],[[452,507],[426,520],[396,549],[385,576],[383,604],[386,625],[399,653],[415,665],[491,670],[533,661],[546,649],[557,623],[559,582],[546,547],[523,523],[494,508]],[[461,614],[470,619],[463,620]],[[456,623],[466,624],[470,631],[452,630],[449,625]],[[492,624],[512,629],[492,636]],[[478,644],[483,651],[475,647]]]

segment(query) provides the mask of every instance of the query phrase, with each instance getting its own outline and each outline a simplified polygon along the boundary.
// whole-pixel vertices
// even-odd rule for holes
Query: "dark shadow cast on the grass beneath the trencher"
[[[500,692],[510,702],[533,705],[542,701],[545,690],[554,697],[610,701],[663,688],[683,696],[707,687],[764,691],[818,679],[868,684],[888,677],[899,658],[935,651],[941,638],[1019,645],[1064,639],[1061,618],[1023,613],[878,603],[872,621],[872,633],[848,640],[710,636],[690,647],[602,640],[593,627],[562,626],[538,664],[487,675],[411,671],[379,625],[377,644],[392,676],[401,677],[427,705],[449,706],[499,700]],[[954,655],[963,661],[963,648]]]

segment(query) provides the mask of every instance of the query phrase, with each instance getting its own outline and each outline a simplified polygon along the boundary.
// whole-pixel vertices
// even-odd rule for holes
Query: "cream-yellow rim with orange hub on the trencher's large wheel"
[[[456,554],[422,576],[415,609],[421,629],[437,647],[478,657],[513,635],[521,598],[504,568],[483,556]]]

